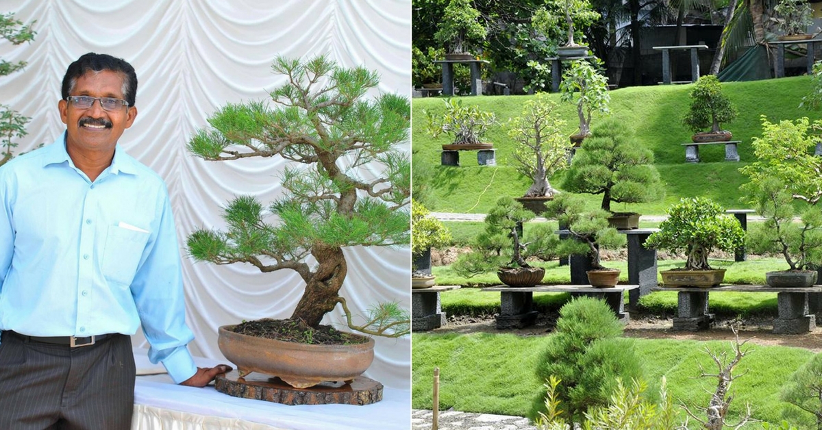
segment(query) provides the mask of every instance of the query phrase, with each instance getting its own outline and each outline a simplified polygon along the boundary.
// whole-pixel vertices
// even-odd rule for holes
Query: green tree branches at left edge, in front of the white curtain
[[[23,24],[22,21],[14,19],[13,13],[0,15],[0,37],[8,40],[14,45],[31,42],[35,39],[37,32],[32,30],[31,25],[36,21],[31,21],[29,24]],[[0,76],[7,76],[25,67],[26,62],[8,62],[0,59]],[[2,155],[0,155],[0,165],[6,164],[8,160],[12,160],[12,149],[17,146],[13,139],[19,139],[27,134],[25,131],[25,124],[29,123],[31,118],[21,115],[11,107],[0,104],[0,141],[2,141]]]

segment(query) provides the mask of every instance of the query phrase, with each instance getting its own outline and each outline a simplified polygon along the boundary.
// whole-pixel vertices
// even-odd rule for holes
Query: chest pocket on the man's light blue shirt
[[[149,233],[109,225],[101,270],[106,280],[131,285]]]

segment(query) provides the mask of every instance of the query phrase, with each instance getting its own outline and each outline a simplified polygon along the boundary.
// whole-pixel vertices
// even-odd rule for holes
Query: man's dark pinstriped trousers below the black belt
[[[94,345],[0,339],[0,429],[129,430],[134,356],[127,335]]]

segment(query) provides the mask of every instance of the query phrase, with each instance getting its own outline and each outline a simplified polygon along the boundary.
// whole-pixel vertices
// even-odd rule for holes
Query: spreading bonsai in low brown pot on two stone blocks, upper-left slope
[[[427,132],[432,137],[436,139],[443,133],[454,136],[442,150],[490,150],[493,147],[493,144],[482,141],[488,127],[496,124],[493,113],[467,106],[458,99],[449,98],[445,103],[445,113],[423,111],[428,118]]]

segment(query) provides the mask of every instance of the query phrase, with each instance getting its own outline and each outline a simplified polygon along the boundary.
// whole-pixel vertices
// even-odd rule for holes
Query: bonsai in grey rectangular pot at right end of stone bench
[[[822,261],[822,213],[812,206],[802,210],[800,221],[791,193],[782,181],[766,178],[753,187],[751,202],[764,223],[748,233],[748,248],[758,254],[781,254],[788,269],[765,273],[772,287],[810,287],[816,283],[816,266]]]

